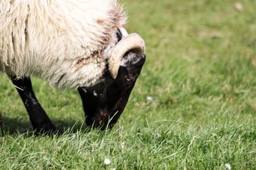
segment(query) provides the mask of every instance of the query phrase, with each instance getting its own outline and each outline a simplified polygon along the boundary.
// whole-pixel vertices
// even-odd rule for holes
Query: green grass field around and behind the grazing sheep
[[[147,62],[118,124],[86,129],[75,90],[33,78],[49,117],[67,129],[33,136],[1,73],[0,169],[256,169],[256,1],[122,2]]]

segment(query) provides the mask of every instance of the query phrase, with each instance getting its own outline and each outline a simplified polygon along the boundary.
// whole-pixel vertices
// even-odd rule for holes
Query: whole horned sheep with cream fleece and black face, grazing
[[[1,0],[0,71],[8,74],[36,132],[56,127],[36,99],[30,76],[77,89],[86,124],[113,127],[145,62],[145,42],[124,29],[116,0]]]

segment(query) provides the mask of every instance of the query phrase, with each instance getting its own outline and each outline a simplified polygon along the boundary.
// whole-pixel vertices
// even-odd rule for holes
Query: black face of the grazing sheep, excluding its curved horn
[[[122,66],[114,80],[109,72],[104,82],[93,87],[78,89],[86,114],[86,124],[105,129],[113,127],[127,104],[145,62],[145,56],[127,52],[122,58]]]

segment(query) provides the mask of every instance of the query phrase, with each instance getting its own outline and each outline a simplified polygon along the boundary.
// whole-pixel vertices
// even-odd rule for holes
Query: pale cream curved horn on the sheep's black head
[[[140,55],[145,54],[145,42],[139,34],[132,33],[119,41],[111,52],[109,57],[109,72],[113,79],[116,78],[118,69],[120,67],[120,61],[124,54],[129,50]]]

